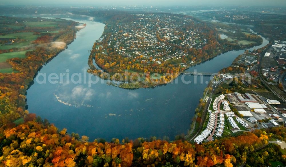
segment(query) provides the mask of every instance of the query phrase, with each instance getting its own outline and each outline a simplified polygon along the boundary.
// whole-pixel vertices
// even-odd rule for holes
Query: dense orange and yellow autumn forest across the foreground
[[[0,128],[0,166],[239,166],[246,153],[267,144],[269,137],[286,139],[285,128],[240,132],[235,136],[191,144],[177,140],[146,142],[114,139],[88,142],[67,130],[28,114],[27,122]],[[270,131],[270,132],[268,132]],[[285,159],[283,160],[285,162]]]

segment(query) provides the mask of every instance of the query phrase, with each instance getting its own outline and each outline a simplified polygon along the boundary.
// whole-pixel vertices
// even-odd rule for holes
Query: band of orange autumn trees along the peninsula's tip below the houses
[[[102,79],[108,79],[105,73],[109,73],[111,78],[116,81],[120,79],[123,81],[139,81],[139,83],[124,84],[121,83],[119,87],[126,89],[134,89],[134,88],[146,88],[152,87],[160,84],[166,84],[173,81],[174,78],[178,77],[180,71],[183,70],[179,65],[173,65],[168,63],[167,61],[162,61],[161,64],[152,62],[152,57],[150,57],[149,61],[151,63],[143,63],[140,61],[142,56],[137,56],[133,59],[123,57],[116,52],[109,52],[109,55],[101,53],[103,49],[100,47],[96,49],[96,46],[100,45],[100,43],[94,43],[93,49],[91,51],[88,64],[91,67],[88,72],[97,74]],[[101,68],[97,69],[93,64],[93,59],[95,59],[95,63]],[[145,73],[146,75],[139,74],[134,75],[136,72]],[[153,73],[159,73],[159,78],[152,79]],[[141,81],[138,76],[142,79]],[[143,83],[144,82],[144,83]]]

